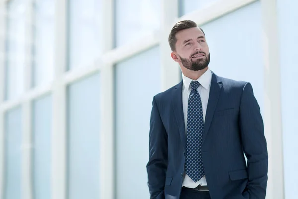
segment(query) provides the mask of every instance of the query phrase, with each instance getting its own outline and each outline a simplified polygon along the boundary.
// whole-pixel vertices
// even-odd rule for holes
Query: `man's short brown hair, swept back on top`
[[[176,42],[177,42],[176,34],[177,34],[177,32],[184,30],[184,29],[195,28],[195,27],[198,27],[198,25],[194,21],[191,21],[191,20],[184,20],[184,21],[177,22],[174,25],[174,27],[172,28],[170,35],[169,35],[169,44],[170,44],[171,50],[172,51],[176,50]],[[203,34],[205,36],[205,33],[202,30],[202,28],[200,28],[200,30],[203,32]]]

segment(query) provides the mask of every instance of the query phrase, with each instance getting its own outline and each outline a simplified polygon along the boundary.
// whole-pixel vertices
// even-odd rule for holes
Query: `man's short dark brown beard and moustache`
[[[202,53],[205,56],[203,58],[196,59],[195,61],[192,61],[191,58],[186,59],[186,58],[180,57],[179,55],[178,56],[180,57],[181,63],[185,68],[192,70],[192,71],[199,71],[199,70],[206,68],[210,62],[210,53],[206,56],[206,53],[204,53],[204,52],[197,52],[197,53],[193,54],[192,56],[199,54],[199,53]]]

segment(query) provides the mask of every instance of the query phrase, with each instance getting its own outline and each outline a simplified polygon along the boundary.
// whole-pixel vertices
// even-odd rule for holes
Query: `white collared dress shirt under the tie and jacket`
[[[201,77],[199,77],[199,79],[196,80],[201,84],[198,87],[198,92],[200,94],[201,101],[202,101],[204,123],[205,123],[205,115],[206,115],[206,109],[207,109],[207,104],[209,99],[211,77],[212,77],[212,74],[210,69],[208,68],[208,70],[205,73],[203,73]],[[187,133],[186,129],[187,129],[188,97],[191,91],[190,83],[193,80],[184,76],[183,74],[182,74],[182,80],[183,80],[183,88],[182,88],[183,114],[184,114],[185,132]],[[205,175],[199,181],[194,182],[187,174],[185,174],[182,186],[195,188],[198,185],[207,185]]]

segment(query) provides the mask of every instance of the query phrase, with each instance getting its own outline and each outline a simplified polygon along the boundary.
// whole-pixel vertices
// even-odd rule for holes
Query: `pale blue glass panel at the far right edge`
[[[281,100],[285,199],[297,198],[298,188],[298,1],[277,0],[280,34]],[[295,64],[296,63],[296,64]]]

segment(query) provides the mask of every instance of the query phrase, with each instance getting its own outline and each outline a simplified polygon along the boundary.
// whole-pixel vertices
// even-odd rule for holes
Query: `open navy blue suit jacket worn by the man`
[[[150,199],[180,197],[186,143],[182,86],[181,81],[153,98],[146,166]],[[212,199],[265,199],[267,144],[250,83],[212,73],[202,159]]]

